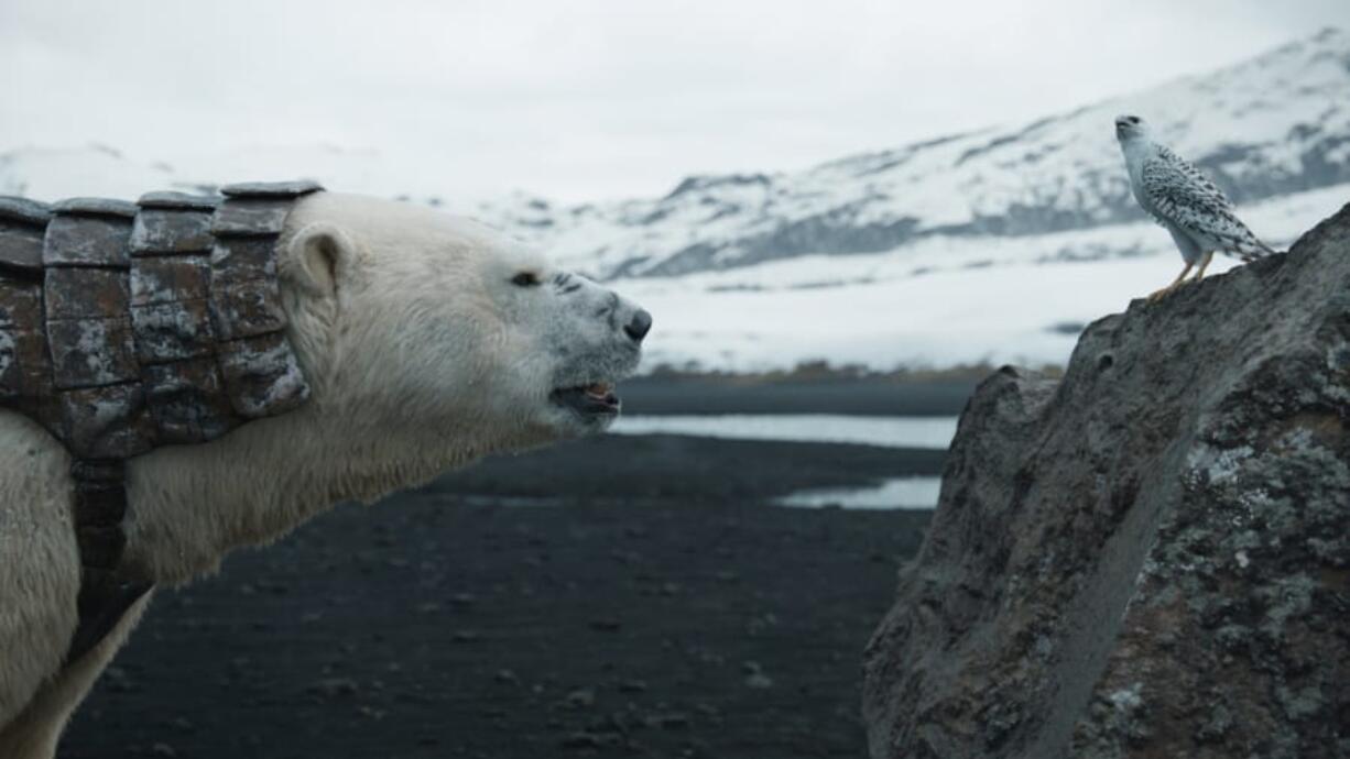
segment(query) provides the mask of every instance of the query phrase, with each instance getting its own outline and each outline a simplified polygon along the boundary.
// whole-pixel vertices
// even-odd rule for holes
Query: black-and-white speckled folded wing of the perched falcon
[[[1233,204],[1199,169],[1165,147],[1143,160],[1139,182],[1160,220],[1218,243],[1243,257],[1270,253],[1233,210]]]

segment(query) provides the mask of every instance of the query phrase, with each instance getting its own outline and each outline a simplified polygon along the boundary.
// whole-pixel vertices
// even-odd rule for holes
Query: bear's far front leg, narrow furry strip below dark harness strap
[[[78,661],[47,681],[12,723],[0,729],[0,756],[5,759],[53,759],[66,720],[93,688],[127,635],[140,621],[151,593],[127,609],[112,632]]]

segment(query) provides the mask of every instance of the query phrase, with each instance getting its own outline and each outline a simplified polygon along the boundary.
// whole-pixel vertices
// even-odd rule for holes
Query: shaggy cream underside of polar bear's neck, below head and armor
[[[481,456],[444,437],[390,441],[350,427],[305,407],[134,460],[127,561],[155,582],[184,582],[215,572],[230,550],[269,543],[338,503],[371,502]]]

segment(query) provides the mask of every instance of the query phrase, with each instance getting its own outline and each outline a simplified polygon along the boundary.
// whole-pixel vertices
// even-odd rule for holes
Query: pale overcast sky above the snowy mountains
[[[321,143],[455,191],[649,195],[1035,119],[1323,26],[1350,0],[0,0],[0,152]]]

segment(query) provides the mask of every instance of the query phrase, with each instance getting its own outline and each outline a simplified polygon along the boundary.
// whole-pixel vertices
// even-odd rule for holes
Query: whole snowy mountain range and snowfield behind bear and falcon
[[[169,163],[101,146],[16,150],[0,154],[0,194],[309,177],[446,205],[641,302],[656,315],[649,369],[1062,363],[1081,325],[1180,270],[1170,237],[1129,197],[1119,113],[1149,119],[1277,248],[1350,201],[1350,35],[1336,30],[1030,124],[798,173],[690,177],[662,198],[470,202],[417,167],[331,146]]]

